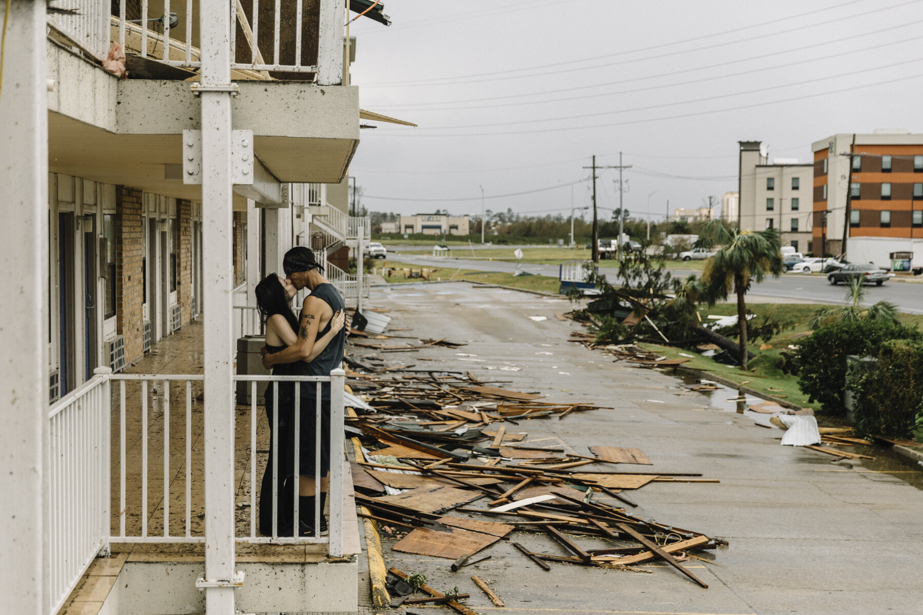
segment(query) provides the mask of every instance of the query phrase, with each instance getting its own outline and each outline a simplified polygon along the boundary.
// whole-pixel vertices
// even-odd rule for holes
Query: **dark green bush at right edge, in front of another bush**
[[[875,356],[874,368],[853,370],[847,378],[856,426],[873,435],[912,437],[923,412],[923,343],[892,339]]]

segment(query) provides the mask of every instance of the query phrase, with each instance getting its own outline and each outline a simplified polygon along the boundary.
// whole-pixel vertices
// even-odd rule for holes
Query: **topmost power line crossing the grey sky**
[[[849,15],[849,16],[845,16],[845,17],[842,17],[842,18],[828,19],[827,21],[821,21],[821,22],[818,22],[818,23],[815,23],[815,24],[806,24],[806,25],[802,25],[802,26],[797,26],[797,27],[795,27],[795,28],[790,28],[790,29],[788,29],[788,30],[779,30],[779,31],[776,31],[776,32],[768,32],[768,33],[765,33],[765,34],[757,34],[757,35],[751,36],[751,37],[746,38],[746,39],[738,39],[737,41],[721,41],[721,42],[716,42],[716,43],[712,43],[712,44],[709,44],[709,45],[703,45],[703,46],[701,46],[701,47],[694,47],[694,48],[692,48],[692,49],[677,50],[677,51],[674,51],[674,52],[661,53],[661,54],[659,54],[659,55],[650,55],[650,56],[646,56],[646,57],[642,57],[642,58],[633,58],[633,59],[629,59],[629,60],[622,60],[622,61],[620,61],[620,62],[615,62],[615,63],[611,63],[611,64],[607,64],[607,65],[578,66],[578,67],[576,67],[576,68],[569,68],[569,69],[560,70],[560,71],[544,71],[545,68],[555,68],[555,67],[557,67],[557,66],[580,64],[581,62],[593,62],[594,60],[601,60],[601,59],[610,58],[610,57],[617,57],[617,56],[619,56],[619,55],[626,55],[626,54],[628,54],[628,53],[641,53],[641,52],[645,52],[645,51],[652,51],[652,50],[654,50],[654,49],[661,49],[661,48],[664,48],[664,47],[670,47],[670,46],[673,46],[673,45],[683,44],[683,43],[686,43],[686,42],[701,41],[701,40],[703,40],[703,39],[709,39],[709,38],[713,38],[713,37],[716,37],[716,36],[724,36],[725,34],[733,34],[733,33],[739,32],[739,31],[741,31],[741,30],[750,30],[750,29],[757,28],[757,27],[761,27],[761,26],[765,26],[765,25],[771,24],[771,23],[778,23],[778,22],[780,22],[780,21],[786,21],[786,20],[789,20],[789,19],[802,18],[802,17],[805,17],[805,16],[807,16],[807,15],[812,15],[812,14],[814,14],[814,13],[819,13],[819,12],[826,11],[826,10],[832,10],[832,9],[835,9],[835,8],[842,8],[843,6],[848,6],[848,5],[857,4],[857,2],[861,2],[861,1],[863,1],[863,0],[852,0],[851,2],[845,3],[845,5],[832,6],[832,7],[830,7],[830,8],[815,9],[815,10],[813,10],[813,11],[809,11],[808,13],[802,13],[802,14],[800,14],[800,15],[794,15],[794,16],[791,16],[791,17],[788,17],[788,18],[778,18],[778,19],[775,19],[775,20],[773,20],[773,21],[764,21],[764,22],[761,22],[761,23],[759,23],[759,24],[753,24],[753,25],[750,25],[750,26],[745,26],[745,27],[743,27],[743,28],[735,28],[735,29],[733,29],[733,30],[724,30],[724,31],[721,31],[721,32],[714,32],[714,33],[712,33],[712,34],[703,34],[703,35],[701,35],[701,36],[693,37],[693,38],[691,38],[691,39],[685,39],[685,40],[683,40],[683,41],[665,42],[665,43],[660,43],[660,44],[658,44],[658,45],[652,45],[652,46],[649,46],[649,47],[641,47],[641,48],[639,48],[639,49],[627,50],[627,51],[623,51],[623,52],[606,53],[605,55],[597,55],[597,56],[593,56],[593,57],[591,57],[591,58],[583,58],[583,59],[581,59],[581,60],[569,60],[569,61],[566,61],[566,62],[557,62],[557,63],[554,63],[554,64],[537,65],[537,66],[528,66],[528,67],[522,67],[522,68],[510,68],[510,69],[508,69],[508,70],[494,71],[494,72],[490,72],[490,73],[475,73],[475,74],[473,74],[473,75],[464,75],[464,76],[457,76],[457,77],[434,77],[434,78],[431,78],[431,79],[414,79],[414,80],[410,80],[410,81],[391,81],[391,82],[388,82],[388,83],[385,83],[385,82],[382,82],[382,83],[369,83],[369,84],[364,84],[364,87],[365,87],[365,88],[383,88],[383,87],[391,88],[391,87],[394,87],[394,86],[423,87],[423,86],[465,85],[465,84],[471,84],[471,83],[483,83],[483,82],[485,82],[485,81],[496,81],[497,79],[509,80],[509,79],[521,79],[521,78],[530,78],[530,77],[547,77],[547,76],[549,76],[549,75],[557,75],[557,74],[559,74],[559,73],[564,73],[564,72],[572,73],[572,72],[575,71],[575,70],[591,70],[591,69],[595,69],[595,68],[601,68],[601,67],[603,67],[603,66],[614,66],[614,65],[632,64],[632,63],[635,63],[635,62],[642,62],[642,61],[645,61],[645,60],[656,60],[656,59],[660,59],[660,58],[670,57],[670,56],[673,56],[673,55],[678,55],[678,54],[680,54],[680,53],[693,53],[693,52],[700,52],[700,51],[704,51],[704,50],[708,50],[708,49],[714,49],[714,48],[717,48],[717,47],[725,47],[725,46],[727,46],[727,45],[736,44],[737,42],[750,42],[750,41],[756,41],[756,40],[759,40],[759,39],[765,39],[765,38],[777,36],[777,35],[779,35],[779,34],[788,34],[788,33],[791,33],[791,32],[796,32],[796,31],[798,31],[798,30],[808,30],[808,29],[810,29],[810,28],[818,28],[818,27],[820,27],[820,26],[827,26],[827,25],[830,25],[830,24],[832,24],[832,23],[836,23],[836,22],[839,22],[839,21],[845,21],[845,20],[847,20],[847,19],[854,19],[854,18],[866,17],[866,16],[871,15],[871,14],[873,14],[873,13],[880,13],[880,12],[882,12],[882,11],[888,11],[888,10],[892,10],[892,9],[894,9],[894,8],[900,8],[901,6],[908,6],[908,5],[917,4],[917,2],[920,2],[921,0],[907,0],[906,2],[902,2],[902,3],[897,4],[897,5],[883,6],[883,7],[881,7],[881,8],[875,8],[875,9],[872,9],[872,10],[869,10],[869,11],[865,11],[865,12],[863,12],[863,13],[857,13],[857,14],[855,14],[855,15]],[[526,70],[543,70],[544,72],[542,72],[542,73],[537,73],[537,74],[535,74],[535,75],[519,75],[519,76],[513,75],[513,76],[510,76],[510,73],[518,73],[518,72],[526,71]],[[505,76],[505,77],[498,77],[498,76]],[[491,77],[491,78],[472,79],[472,77]],[[472,80],[467,80],[467,81],[449,81],[449,79],[472,79]]]

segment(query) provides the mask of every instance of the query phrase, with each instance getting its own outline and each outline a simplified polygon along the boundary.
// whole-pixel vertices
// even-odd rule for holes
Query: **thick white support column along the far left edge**
[[[44,615],[48,579],[48,121],[45,3],[12,0],[0,97],[0,578],[3,610]],[[3,20],[0,19],[0,24]]]

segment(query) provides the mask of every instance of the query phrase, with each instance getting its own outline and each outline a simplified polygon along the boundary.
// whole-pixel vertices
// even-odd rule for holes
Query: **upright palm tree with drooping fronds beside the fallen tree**
[[[752,280],[759,283],[767,274],[778,278],[785,271],[782,254],[779,252],[779,233],[775,229],[737,231],[728,229],[720,220],[712,220],[706,224],[705,234],[722,247],[705,261],[701,275],[705,282],[704,299],[709,305],[714,305],[715,302],[727,299],[732,291],[737,294],[740,369],[746,371],[747,303],[744,296]]]

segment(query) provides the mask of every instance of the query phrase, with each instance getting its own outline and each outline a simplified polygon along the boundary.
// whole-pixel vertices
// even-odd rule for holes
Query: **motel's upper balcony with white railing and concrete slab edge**
[[[50,170],[198,200],[200,187],[182,181],[183,131],[200,129],[198,0],[57,6],[79,12],[49,18]],[[341,181],[359,141],[357,89],[340,85],[345,0],[227,6],[232,123],[253,131],[258,193],[277,202],[281,183]],[[115,44],[125,49],[122,78],[102,68],[122,66],[105,61]]]

